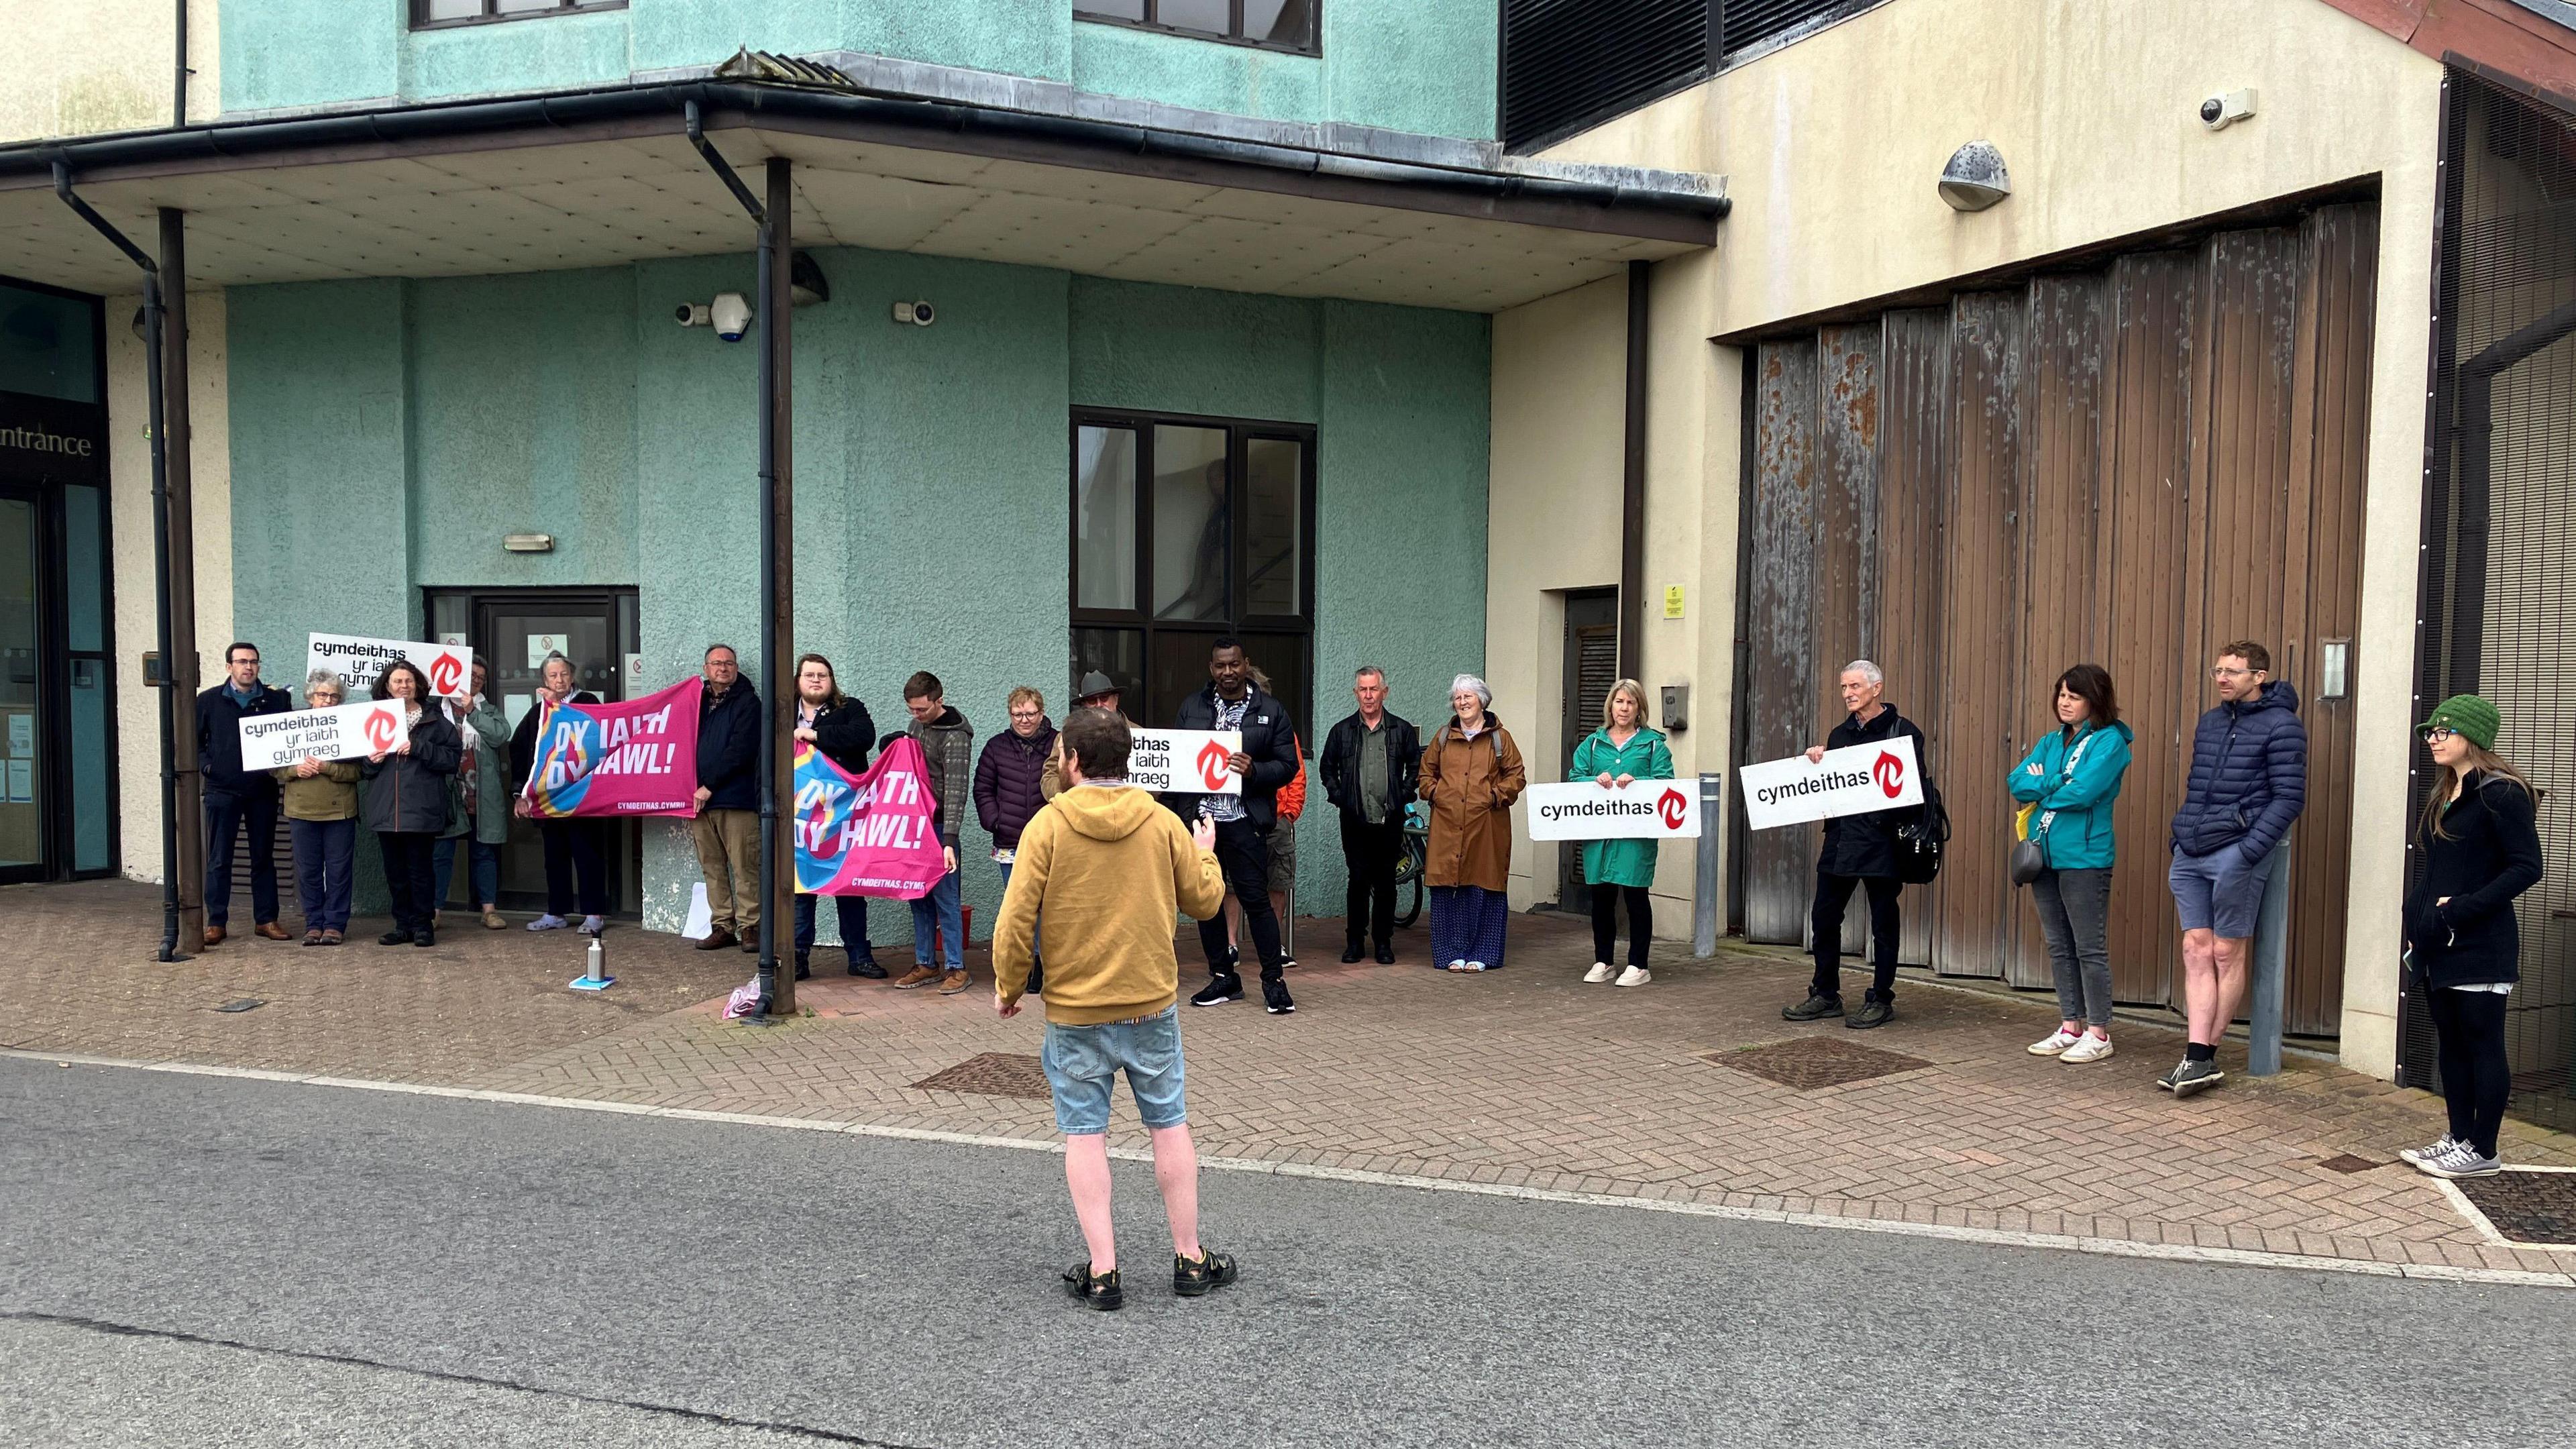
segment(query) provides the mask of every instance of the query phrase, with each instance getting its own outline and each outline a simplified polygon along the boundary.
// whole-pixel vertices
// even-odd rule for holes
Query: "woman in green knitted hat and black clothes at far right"
[[[2424,869],[2406,892],[2406,959],[2424,987],[2442,1049],[2450,1132],[2398,1152],[2437,1178],[2483,1178],[2514,1075],[2504,1057],[2504,1000],[2522,980],[2514,897],[2540,884],[2540,792],[2496,755],[2504,719],[2476,694],[2442,701],[2416,732],[2439,768],[2416,843]]]

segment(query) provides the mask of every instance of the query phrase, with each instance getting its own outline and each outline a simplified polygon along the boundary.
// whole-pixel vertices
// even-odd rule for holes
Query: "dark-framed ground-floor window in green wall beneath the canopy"
[[[1170,724],[1234,634],[1314,748],[1314,428],[1074,413],[1072,676]]]

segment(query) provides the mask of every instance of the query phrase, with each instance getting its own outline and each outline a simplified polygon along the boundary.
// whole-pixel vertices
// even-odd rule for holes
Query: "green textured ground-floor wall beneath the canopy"
[[[1012,686],[1061,714],[1077,402],[1319,428],[1319,722],[1363,660],[1417,719],[1481,668],[1484,317],[814,255],[835,302],[796,312],[796,650],[829,655],[881,727],[917,668],[979,743]],[[296,657],[312,629],[417,637],[425,585],[631,583],[647,678],[696,673],[716,639],[757,670],[757,348],[670,322],[750,286],[752,260],[729,255],[234,289],[245,634]],[[891,297],[938,299],[940,322],[886,322]],[[507,554],[510,531],[556,552]],[[672,928],[696,853],[680,825],[644,841],[647,918]],[[969,828],[966,900],[989,923],[987,853]],[[1301,908],[1337,910],[1321,799],[1301,853]],[[909,915],[878,908],[871,933],[894,959]]]

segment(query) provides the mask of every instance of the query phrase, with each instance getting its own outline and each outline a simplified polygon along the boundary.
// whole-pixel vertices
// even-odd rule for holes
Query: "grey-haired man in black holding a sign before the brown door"
[[[1924,794],[1932,792],[1932,758],[1924,753],[1924,732],[1911,719],[1883,701],[1886,673],[1870,660],[1842,665],[1842,706],[1850,719],[1834,724],[1821,745],[1808,745],[1806,758],[1816,763],[1826,750],[1852,745],[1878,745],[1899,735],[1914,740],[1914,768],[1924,773]],[[1870,892],[1870,993],[1860,1011],[1842,1016],[1852,1031],[1886,1026],[1896,1016],[1896,828],[1911,820],[1911,810],[1873,810],[1868,815],[1837,815],[1824,822],[1824,853],[1816,859],[1816,913],[1808,920],[1816,951],[1816,980],[1798,1006],[1780,1008],[1788,1021],[1816,1021],[1842,1016],[1842,913],[1852,905],[1852,890]]]

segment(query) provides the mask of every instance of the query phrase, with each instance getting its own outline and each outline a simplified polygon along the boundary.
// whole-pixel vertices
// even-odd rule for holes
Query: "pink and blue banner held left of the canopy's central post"
[[[520,797],[541,820],[698,815],[698,691],[685,678],[623,704],[549,704]]]

